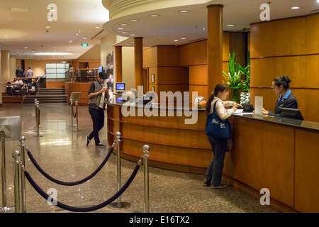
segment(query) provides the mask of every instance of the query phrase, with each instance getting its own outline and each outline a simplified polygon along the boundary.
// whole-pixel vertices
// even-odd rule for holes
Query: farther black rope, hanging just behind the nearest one
[[[82,184],[82,183],[88,181],[89,179],[91,179],[92,177],[94,177],[102,169],[102,167],[105,165],[105,163],[108,161],[108,158],[111,156],[111,154],[113,152],[113,147],[111,147],[111,149],[108,151],[108,155],[106,155],[106,157],[103,160],[103,162],[101,163],[101,165],[93,173],[91,173],[91,175],[89,175],[88,177],[85,177],[84,179],[81,179],[77,182],[62,182],[58,179],[51,177],[38,165],[37,161],[34,159],[33,155],[30,153],[30,150],[28,150],[28,148],[26,150],[27,150],[28,156],[30,157],[31,162],[33,163],[33,165],[35,165],[35,168],[37,168],[37,170],[39,170],[39,172],[42,173],[43,176],[47,177],[47,179],[50,179],[50,181],[55,182],[57,184],[66,185],[66,186],[74,186],[77,184]]]

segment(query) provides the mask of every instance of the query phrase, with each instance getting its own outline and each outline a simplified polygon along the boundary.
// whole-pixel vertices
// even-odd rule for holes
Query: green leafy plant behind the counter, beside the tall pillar
[[[235,63],[235,52],[233,52],[233,57],[229,53],[229,62],[227,63],[228,74],[223,71],[225,75],[226,84],[233,91],[233,101],[239,103],[239,89],[242,88],[242,79],[240,79],[240,70]]]

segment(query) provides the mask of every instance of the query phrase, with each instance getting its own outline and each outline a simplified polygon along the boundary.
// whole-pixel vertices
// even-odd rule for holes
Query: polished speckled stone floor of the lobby
[[[86,135],[92,128],[88,106],[79,106],[79,131],[76,131],[72,127],[71,109],[68,104],[40,104],[42,137],[36,136],[34,128],[34,104],[3,104],[0,108],[0,117],[7,116],[22,116],[22,135],[26,138],[25,143],[30,152],[45,172],[61,181],[74,182],[90,175],[108,153],[107,148],[96,148],[94,143],[85,146]],[[100,138],[103,144],[107,144],[106,126],[101,130]],[[14,206],[11,153],[19,149],[18,145],[18,140],[6,141],[6,188],[9,207]],[[122,185],[130,177],[136,165],[135,162],[121,160]],[[95,206],[117,192],[117,167],[114,154],[95,177],[78,186],[62,186],[50,182],[35,168],[28,155],[26,155],[26,170],[43,191],[55,189],[57,201],[69,206]],[[111,209],[105,206],[92,212],[144,212],[143,177],[143,165],[141,165],[132,184],[121,196],[121,201],[130,204],[129,208]],[[150,213],[276,213],[272,207],[259,204],[259,199],[254,199],[233,187],[221,190],[203,187],[202,179],[202,175],[149,167]],[[0,202],[1,200],[0,198]],[[26,211],[27,213],[69,212],[48,205],[28,181],[26,181]]]

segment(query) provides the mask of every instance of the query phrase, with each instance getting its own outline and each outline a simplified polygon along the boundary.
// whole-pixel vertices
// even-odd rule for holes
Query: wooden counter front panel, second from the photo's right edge
[[[290,207],[293,207],[294,186],[293,143],[293,128],[267,123],[262,125],[261,187],[269,189],[272,199]]]

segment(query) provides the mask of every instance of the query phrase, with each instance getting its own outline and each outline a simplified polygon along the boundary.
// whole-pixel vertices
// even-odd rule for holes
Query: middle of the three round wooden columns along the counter
[[[143,44],[142,37],[134,38],[134,57],[135,57],[135,89],[143,85]]]

